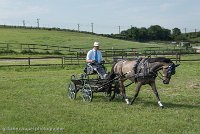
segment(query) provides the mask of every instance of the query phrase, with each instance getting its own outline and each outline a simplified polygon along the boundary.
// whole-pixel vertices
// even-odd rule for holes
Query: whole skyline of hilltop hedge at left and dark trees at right
[[[48,27],[25,27],[25,26],[9,26],[9,25],[0,25],[0,28],[25,28],[25,29],[40,29],[40,30],[56,30],[56,31],[70,31],[70,32],[79,32],[86,33],[98,36],[105,36],[109,38],[117,38],[124,40],[132,41],[190,41],[194,43],[200,43],[198,39],[193,40],[194,38],[200,37],[199,32],[190,32],[190,33],[181,33],[179,28],[173,28],[172,30],[163,28],[159,25],[152,25],[149,28],[137,28],[131,27],[127,30],[121,31],[120,34],[97,34],[87,31],[77,31],[70,29],[61,29],[61,28],[48,28]]]

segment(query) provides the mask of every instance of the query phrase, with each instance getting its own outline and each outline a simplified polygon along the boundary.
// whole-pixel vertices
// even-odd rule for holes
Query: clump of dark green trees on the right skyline
[[[191,38],[200,37],[200,32],[181,33],[179,28],[170,30],[159,25],[152,25],[149,28],[131,27],[130,29],[121,31],[120,34],[111,34],[110,36],[113,38],[134,41],[189,41]]]

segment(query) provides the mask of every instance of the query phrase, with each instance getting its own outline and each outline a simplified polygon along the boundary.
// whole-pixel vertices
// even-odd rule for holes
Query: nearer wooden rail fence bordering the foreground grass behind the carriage
[[[158,55],[149,55],[149,57],[157,57]],[[142,56],[141,56],[142,57]],[[145,57],[143,55],[143,57]],[[178,62],[184,61],[200,61],[200,59],[182,59],[182,56],[177,55],[165,55],[165,57],[170,58],[171,60]],[[198,57],[198,56],[197,56]],[[133,57],[107,57],[106,64],[113,63],[116,59],[136,59],[136,56]],[[85,57],[27,57],[27,58],[0,58],[0,67],[9,67],[9,66],[66,66],[66,65],[84,65]]]

